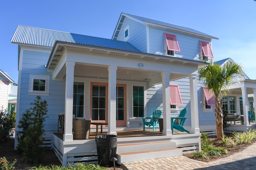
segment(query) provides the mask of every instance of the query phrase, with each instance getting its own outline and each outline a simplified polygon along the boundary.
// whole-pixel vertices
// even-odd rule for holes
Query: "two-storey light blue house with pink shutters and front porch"
[[[97,160],[94,139],[73,138],[73,115],[108,123],[104,130],[117,135],[142,130],[142,117],[160,109],[161,135],[119,136],[118,144],[126,146],[117,148],[118,163],[200,150],[199,125],[208,130],[215,123],[214,114],[201,112],[204,95],[197,83],[198,68],[212,60],[212,39],[218,38],[126,13],[121,13],[112,39],[19,25],[11,40],[19,51],[16,125],[40,95],[48,102],[46,144],[68,166]],[[190,133],[173,133],[170,117],[184,108]],[[56,134],[60,113],[65,117],[63,136]],[[91,131],[96,131],[93,125]],[[127,154],[138,149],[148,152]]]

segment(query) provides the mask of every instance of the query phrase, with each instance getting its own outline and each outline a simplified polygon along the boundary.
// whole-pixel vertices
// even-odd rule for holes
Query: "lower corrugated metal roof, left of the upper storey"
[[[20,25],[17,27],[11,39],[12,43],[45,47],[53,47],[55,41],[141,52],[128,42]]]

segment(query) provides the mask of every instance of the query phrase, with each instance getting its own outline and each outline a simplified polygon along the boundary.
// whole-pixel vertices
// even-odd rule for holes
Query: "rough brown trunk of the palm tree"
[[[223,113],[221,109],[221,100],[220,97],[215,97],[215,121],[216,121],[216,129],[217,129],[217,139],[221,140],[221,138],[224,138],[223,133]]]

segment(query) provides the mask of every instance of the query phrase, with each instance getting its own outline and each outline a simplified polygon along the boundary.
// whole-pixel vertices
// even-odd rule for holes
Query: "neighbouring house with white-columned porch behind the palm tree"
[[[228,63],[235,61],[232,58],[222,59],[216,61],[222,67]],[[248,111],[251,111],[255,107],[256,99],[256,80],[251,80],[245,73],[243,77],[237,76],[236,83],[233,83],[230,89],[230,94],[222,96],[222,108],[227,113],[234,113],[236,117],[242,115],[244,118],[243,125],[230,125],[227,131],[240,131],[256,128],[255,123],[250,124],[248,118]],[[240,116],[238,117],[240,119]]]

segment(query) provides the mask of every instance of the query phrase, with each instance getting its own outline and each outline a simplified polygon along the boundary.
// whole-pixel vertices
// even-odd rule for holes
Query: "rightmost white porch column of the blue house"
[[[200,133],[198,119],[198,99],[197,99],[197,72],[189,75],[190,85],[190,107],[191,107],[191,133]]]

